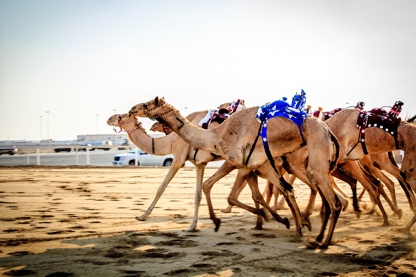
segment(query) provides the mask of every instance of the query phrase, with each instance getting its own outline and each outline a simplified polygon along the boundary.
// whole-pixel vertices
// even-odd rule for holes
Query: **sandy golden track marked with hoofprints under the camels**
[[[147,221],[135,219],[148,208],[169,168],[94,166],[0,167],[0,274],[3,276],[416,276],[416,226],[397,232],[413,216],[399,183],[399,219],[382,199],[390,226],[365,194],[360,218],[351,201],[341,212],[333,245],[308,249],[319,232],[320,198],[311,216],[312,231],[294,237],[288,208],[278,210],[291,227],[271,219],[254,230],[255,215],[225,208],[236,171],[213,187],[218,232],[208,218],[205,197],[198,232],[185,232],[194,212],[195,169],[182,168]],[[206,168],[205,179],[217,168]],[[337,180],[347,195],[346,183]],[[260,190],[265,181],[259,179]],[[309,188],[294,184],[301,209]],[[358,193],[361,191],[358,186]],[[388,193],[389,195],[389,193]],[[239,198],[253,205],[249,188]]]

